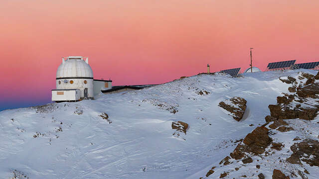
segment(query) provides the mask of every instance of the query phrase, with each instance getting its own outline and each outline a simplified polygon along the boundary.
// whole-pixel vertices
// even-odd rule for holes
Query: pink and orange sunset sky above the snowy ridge
[[[160,84],[319,61],[319,0],[0,0],[0,110],[51,102],[61,57],[96,79]]]

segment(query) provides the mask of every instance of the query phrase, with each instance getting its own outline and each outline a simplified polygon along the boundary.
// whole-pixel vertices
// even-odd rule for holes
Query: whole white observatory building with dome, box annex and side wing
[[[94,99],[101,90],[111,88],[111,80],[93,79],[89,58],[81,56],[64,57],[56,72],[56,89],[52,89],[52,101]]]

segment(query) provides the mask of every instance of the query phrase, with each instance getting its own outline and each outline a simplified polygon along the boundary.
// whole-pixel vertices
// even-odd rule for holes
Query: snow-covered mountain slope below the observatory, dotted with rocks
[[[297,76],[299,71],[317,74],[311,70],[256,72],[242,78],[203,74],[147,89],[101,95],[97,100],[1,111],[0,178],[204,177],[235,149],[236,140],[265,123],[265,116],[270,114],[268,105],[276,104],[276,97],[288,92],[289,85],[279,77]],[[247,100],[239,122],[218,106],[233,96]],[[173,135],[172,121],[186,122],[186,134]],[[303,124],[295,125],[299,123]],[[318,131],[318,125],[312,127]],[[252,167],[226,178],[255,172],[256,167]],[[266,179],[271,179],[275,165],[268,167],[262,170]],[[209,178],[219,178],[225,170],[217,169],[218,175]],[[308,171],[319,175],[318,168]]]

